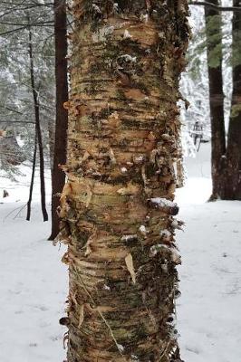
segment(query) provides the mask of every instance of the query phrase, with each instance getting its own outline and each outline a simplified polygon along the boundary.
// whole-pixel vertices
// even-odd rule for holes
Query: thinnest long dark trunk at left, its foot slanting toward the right
[[[28,19],[29,23],[30,20]],[[34,81],[34,58],[33,58],[33,36],[31,26],[29,26],[29,62],[30,62],[30,77],[31,77],[31,86],[33,90],[33,98],[34,98],[34,114],[35,114],[35,126],[36,126],[36,135],[38,141],[38,149],[39,149],[39,165],[40,165],[40,189],[41,189],[41,206],[43,213],[43,221],[48,220],[48,214],[46,210],[46,202],[45,202],[45,183],[44,183],[44,157],[43,157],[43,140],[42,140],[42,132],[40,127],[40,114],[39,114],[39,100],[38,100],[38,92],[35,88]]]

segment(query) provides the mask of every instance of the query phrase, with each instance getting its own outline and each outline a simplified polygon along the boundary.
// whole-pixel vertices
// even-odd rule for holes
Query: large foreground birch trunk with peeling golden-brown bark
[[[69,362],[178,362],[173,218],[185,1],[72,5],[68,182]]]

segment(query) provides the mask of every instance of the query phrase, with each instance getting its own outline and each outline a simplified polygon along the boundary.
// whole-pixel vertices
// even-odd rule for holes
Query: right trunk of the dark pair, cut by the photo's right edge
[[[238,0],[234,6],[241,7]],[[241,13],[233,15],[233,95],[232,109],[227,135],[227,155],[225,182],[221,198],[224,200],[241,200]],[[239,56],[237,53],[239,52]]]

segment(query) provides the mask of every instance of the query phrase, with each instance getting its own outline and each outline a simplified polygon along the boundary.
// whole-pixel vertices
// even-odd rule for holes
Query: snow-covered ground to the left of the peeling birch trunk
[[[0,178],[0,361],[62,362],[65,329],[59,319],[67,295],[63,246],[47,241],[50,224],[43,223],[38,175],[31,221],[25,221],[31,169],[21,171],[18,185]],[[46,184],[49,206],[49,173]],[[9,192],[4,199],[3,189]]]

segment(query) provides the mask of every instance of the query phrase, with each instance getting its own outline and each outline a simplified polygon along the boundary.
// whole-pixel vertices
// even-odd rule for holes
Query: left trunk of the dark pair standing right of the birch
[[[211,4],[219,5],[219,0],[210,0]],[[224,118],[224,92],[222,76],[222,28],[221,14],[212,7],[205,6],[207,34],[207,63],[209,81],[209,106],[211,119],[211,169],[213,190],[210,199],[221,195],[224,171],[224,156],[226,154],[226,135]],[[215,26],[214,26],[215,23]],[[217,67],[211,67],[212,52],[217,50],[219,58]]]

